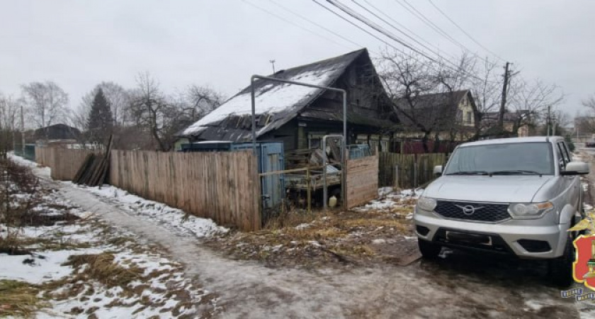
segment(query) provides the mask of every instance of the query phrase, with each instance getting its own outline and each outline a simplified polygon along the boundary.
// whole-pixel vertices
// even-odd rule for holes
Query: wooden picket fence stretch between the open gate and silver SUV
[[[422,186],[436,178],[433,175],[433,167],[445,164],[446,159],[444,153],[380,153],[378,183],[380,186],[395,186],[402,189]]]

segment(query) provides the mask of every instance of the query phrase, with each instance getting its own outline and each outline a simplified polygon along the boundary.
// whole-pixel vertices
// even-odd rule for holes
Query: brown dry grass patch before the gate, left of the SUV
[[[269,220],[263,230],[235,232],[212,240],[210,245],[239,259],[259,259],[269,266],[316,267],[318,264],[359,264],[386,261],[403,249],[386,249],[373,240],[395,242],[412,235],[411,206],[369,211],[290,211]],[[299,227],[296,227],[299,226]],[[413,242],[414,244],[414,242]],[[390,247],[390,243],[385,246]],[[399,244],[402,245],[402,244]],[[406,246],[411,245],[405,242]],[[388,254],[388,256],[386,255]]]

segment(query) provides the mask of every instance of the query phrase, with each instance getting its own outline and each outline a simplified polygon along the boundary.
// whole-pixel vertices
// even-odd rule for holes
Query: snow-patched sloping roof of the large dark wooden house
[[[346,68],[361,55],[368,55],[368,51],[366,49],[357,50],[346,55],[281,70],[271,77],[318,86],[332,86]],[[275,130],[288,123],[325,91],[324,89],[262,79],[256,80],[254,86],[257,135]],[[207,116],[182,130],[178,135],[200,137],[205,140],[249,138],[250,115],[251,87],[248,86]]]

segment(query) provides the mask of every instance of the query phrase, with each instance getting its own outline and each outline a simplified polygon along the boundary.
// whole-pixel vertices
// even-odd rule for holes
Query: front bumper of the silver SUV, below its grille
[[[526,259],[560,257],[567,240],[568,225],[511,225],[473,223],[438,216],[414,214],[416,235],[438,245],[514,254]]]

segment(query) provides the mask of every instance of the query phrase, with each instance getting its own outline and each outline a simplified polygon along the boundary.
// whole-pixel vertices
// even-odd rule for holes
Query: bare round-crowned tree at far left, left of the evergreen
[[[45,128],[64,119],[68,94],[55,82],[31,82],[21,86],[30,120]]]

